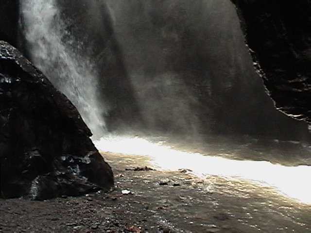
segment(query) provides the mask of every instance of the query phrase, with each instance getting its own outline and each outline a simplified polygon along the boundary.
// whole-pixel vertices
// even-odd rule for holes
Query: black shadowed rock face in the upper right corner
[[[232,1],[276,108],[310,125],[311,0]]]

